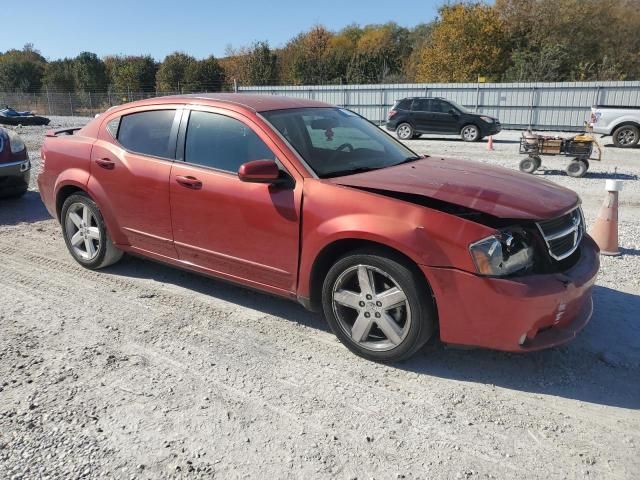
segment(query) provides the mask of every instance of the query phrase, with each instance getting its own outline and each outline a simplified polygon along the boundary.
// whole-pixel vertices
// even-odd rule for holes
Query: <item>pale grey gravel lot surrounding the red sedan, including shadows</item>
[[[35,171],[43,132],[22,129]],[[517,168],[518,135],[408,143]],[[589,221],[625,181],[591,323],[550,351],[432,341],[397,366],[295,303],[132,257],[84,270],[36,191],[0,201],[0,478],[639,478],[640,149],[583,179],[546,166]]]

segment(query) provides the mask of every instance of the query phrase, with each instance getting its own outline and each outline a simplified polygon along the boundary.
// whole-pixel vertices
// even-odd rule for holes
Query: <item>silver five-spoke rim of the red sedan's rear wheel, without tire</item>
[[[85,261],[93,260],[100,252],[102,238],[98,222],[84,203],[73,203],[67,210],[65,229],[73,253]]]

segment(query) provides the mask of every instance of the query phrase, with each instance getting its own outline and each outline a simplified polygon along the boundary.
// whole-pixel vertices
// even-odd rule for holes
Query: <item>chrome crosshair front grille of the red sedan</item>
[[[549,255],[556,260],[563,260],[575,252],[584,235],[584,217],[580,208],[561,217],[538,222],[537,225]]]

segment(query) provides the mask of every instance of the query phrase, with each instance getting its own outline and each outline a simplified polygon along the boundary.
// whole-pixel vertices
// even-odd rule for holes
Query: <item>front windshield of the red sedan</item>
[[[419,158],[372,123],[342,108],[296,108],[262,115],[320,178],[377,170]]]

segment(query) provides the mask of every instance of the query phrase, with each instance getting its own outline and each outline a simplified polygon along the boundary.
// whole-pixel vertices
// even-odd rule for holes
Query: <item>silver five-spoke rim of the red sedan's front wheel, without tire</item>
[[[364,349],[391,350],[409,333],[407,295],[376,267],[355,265],[342,272],[333,286],[332,307],[340,327]]]

